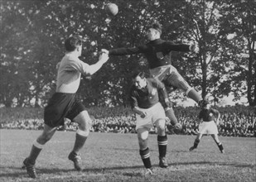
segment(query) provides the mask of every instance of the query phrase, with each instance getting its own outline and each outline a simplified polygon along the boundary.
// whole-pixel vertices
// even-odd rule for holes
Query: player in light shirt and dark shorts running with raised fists
[[[27,174],[36,178],[36,158],[47,141],[55,134],[58,127],[64,125],[64,118],[77,122],[79,129],[75,135],[75,145],[68,156],[73,161],[75,170],[82,170],[80,166],[80,149],[85,145],[89,136],[91,119],[83,103],[75,98],[80,86],[81,74],[91,75],[98,71],[109,56],[102,54],[94,65],[88,65],[79,59],[82,52],[80,36],[70,36],[65,40],[65,56],[58,64],[56,93],[53,94],[44,112],[44,130],[34,141],[30,155],[23,161]]]

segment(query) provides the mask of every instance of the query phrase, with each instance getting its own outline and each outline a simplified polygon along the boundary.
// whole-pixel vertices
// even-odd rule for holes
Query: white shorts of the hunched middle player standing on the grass
[[[152,106],[152,108],[140,109],[147,113],[147,117],[142,118],[138,114],[136,114],[136,130],[138,130],[138,128],[151,129],[154,126],[155,122],[160,119],[166,119],[166,114],[164,109],[162,108],[161,103],[156,103],[154,106]]]

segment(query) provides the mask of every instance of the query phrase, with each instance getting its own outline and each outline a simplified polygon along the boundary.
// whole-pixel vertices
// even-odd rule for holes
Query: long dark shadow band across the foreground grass
[[[179,165],[229,165],[229,166],[234,166],[234,167],[248,167],[248,168],[255,168],[255,164],[238,164],[238,163],[225,163],[225,162],[210,162],[210,161],[196,161],[196,162],[177,162],[177,163],[169,163],[169,167],[171,166],[179,166]],[[158,165],[152,165],[152,167],[158,167]],[[113,174],[112,170],[117,170],[116,172],[118,173],[118,170],[135,170],[135,169],[144,169],[143,165],[133,165],[133,166],[116,166],[116,167],[109,167],[109,168],[89,168],[89,169],[84,169],[80,172],[77,171],[77,173],[94,173],[94,174]],[[19,167],[0,167],[0,170],[12,170],[13,172],[1,172],[0,178],[1,177],[12,177],[12,178],[21,178],[22,175],[27,175],[26,170],[19,168]],[[18,170],[18,171],[17,171]],[[110,171],[109,171],[110,170]],[[74,169],[59,169],[59,168],[53,168],[53,169],[46,169],[46,168],[38,168],[36,169],[37,174],[62,174],[62,173],[67,173],[75,171]],[[139,172],[123,172],[122,175],[126,176],[142,176],[141,173]]]

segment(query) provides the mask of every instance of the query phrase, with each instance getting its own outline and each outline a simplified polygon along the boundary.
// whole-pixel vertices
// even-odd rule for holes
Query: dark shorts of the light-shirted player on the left
[[[82,111],[83,103],[75,98],[75,93],[54,93],[45,108],[45,124],[50,127],[64,125],[64,118],[72,120]]]

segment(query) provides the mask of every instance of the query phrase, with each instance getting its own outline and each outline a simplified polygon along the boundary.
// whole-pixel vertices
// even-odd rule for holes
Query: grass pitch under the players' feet
[[[85,170],[67,159],[75,132],[56,132],[36,162],[38,179],[27,177],[22,160],[41,131],[0,130],[0,181],[256,181],[256,138],[220,137],[221,154],[210,136],[188,151],[196,136],[168,136],[169,167],[158,167],[157,135],[149,136],[154,175],[143,176],[136,134],[90,133],[81,151]]]

